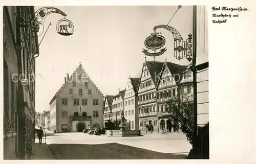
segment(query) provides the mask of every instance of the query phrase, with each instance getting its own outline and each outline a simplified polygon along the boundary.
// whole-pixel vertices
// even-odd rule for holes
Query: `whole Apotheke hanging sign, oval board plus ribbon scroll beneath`
[[[165,38],[160,35],[161,33],[152,33],[150,36],[148,36],[145,41],[144,41],[144,45],[145,47],[150,50],[151,52],[148,52],[148,50],[143,49],[143,53],[146,56],[160,56],[162,55],[166,49],[163,48],[161,49],[164,44],[165,44]],[[157,52],[157,50],[160,50]]]

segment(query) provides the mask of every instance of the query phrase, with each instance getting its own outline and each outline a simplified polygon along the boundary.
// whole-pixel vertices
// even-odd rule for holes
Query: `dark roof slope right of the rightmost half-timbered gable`
[[[179,83],[182,80],[183,72],[187,69],[188,66],[179,65],[172,62],[165,62],[165,64],[167,65],[172,76],[175,78],[176,84]],[[175,76],[175,75],[179,75],[179,76]]]

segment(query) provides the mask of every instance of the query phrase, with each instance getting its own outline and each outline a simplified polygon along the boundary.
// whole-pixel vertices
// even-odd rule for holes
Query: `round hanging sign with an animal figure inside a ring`
[[[69,19],[63,18],[57,22],[56,31],[60,35],[69,36],[74,33],[74,25]]]

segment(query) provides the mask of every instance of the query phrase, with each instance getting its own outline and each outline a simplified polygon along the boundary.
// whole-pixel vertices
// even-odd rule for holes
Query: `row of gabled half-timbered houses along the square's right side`
[[[125,89],[115,96],[105,96],[104,127],[115,123],[118,129],[123,113],[129,129],[180,132],[178,122],[170,118],[168,102],[182,93],[193,96],[193,75],[187,67],[167,61],[145,61],[140,78],[129,77]]]

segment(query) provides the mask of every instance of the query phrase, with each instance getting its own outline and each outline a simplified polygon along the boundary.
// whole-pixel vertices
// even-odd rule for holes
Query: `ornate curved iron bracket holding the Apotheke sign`
[[[186,58],[190,62],[193,55],[192,34],[188,34],[188,38],[183,40],[180,33],[168,25],[158,25],[153,30],[156,31],[160,28],[170,31],[174,36],[174,57],[178,60]]]

